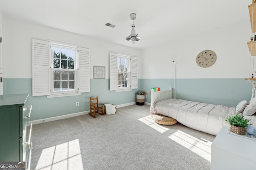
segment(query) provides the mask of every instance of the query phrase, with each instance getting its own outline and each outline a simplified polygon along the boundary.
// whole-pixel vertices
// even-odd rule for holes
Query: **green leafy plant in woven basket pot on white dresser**
[[[245,128],[248,125],[252,125],[248,124],[250,119],[245,119],[243,115],[239,115],[238,113],[231,116],[228,115],[225,121],[230,124],[230,131],[236,133],[237,135],[244,135]]]

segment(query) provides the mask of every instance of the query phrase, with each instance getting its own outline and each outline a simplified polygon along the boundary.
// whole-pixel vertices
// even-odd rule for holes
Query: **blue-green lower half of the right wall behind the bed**
[[[152,87],[174,88],[174,79],[141,79],[141,90],[150,94]],[[244,78],[176,79],[176,98],[235,107],[240,101],[250,101],[252,83]],[[172,90],[174,98],[174,90]],[[145,102],[151,102],[150,95]]]

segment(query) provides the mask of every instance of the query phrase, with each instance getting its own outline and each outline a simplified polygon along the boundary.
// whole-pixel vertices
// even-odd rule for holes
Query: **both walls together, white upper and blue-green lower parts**
[[[121,105],[135,102],[135,92],[146,91],[148,98],[145,102],[150,103],[150,89],[174,88],[176,75],[176,98],[236,106],[241,100],[250,100],[252,93],[251,83],[244,80],[250,63],[246,45],[250,37],[247,36],[247,32],[250,33],[248,25],[249,20],[199,35],[190,35],[186,41],[181,38],[139,50],[43,25],[4,18],[3,33],[6,40],[3,42],[3,93],[30,93],[28,104],[33,105],[30,120],[37,120],[88,111],[89,98],[95,96],[98,96],[102,103]],[[236,41],[230,41],[229,35],[236,35]],[[110,91],[109,71],[106,71],[106,79],[91,79],[90,93],[62,98],[32,97],[32,39],[52,39],[89,48],[91,68],[94,65],[102,65],[109,70],[110,52],[137,56],[138,89],[128,92]],[[218,56],[216,63],[209,68],[201,68],[195,62],[198,52],[204,49],[212,49]],[[174,60],[177,61],[177,74],[174,74]],[[79,102],[79,107],[75,106],[76,102]]]

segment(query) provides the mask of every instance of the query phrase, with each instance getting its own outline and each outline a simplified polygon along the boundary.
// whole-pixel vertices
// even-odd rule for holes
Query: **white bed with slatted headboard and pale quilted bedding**
[[[229,126],[224,119],[227,115],[236,114],[237,107],[174,99],[171,88],[158,92],[151,91],[151,116],[158,113],[172,117],[187,127],[211,135],[217,135],[222,126]],[[255,114],[244,117],[252,119],[251,123],[256,125]]]

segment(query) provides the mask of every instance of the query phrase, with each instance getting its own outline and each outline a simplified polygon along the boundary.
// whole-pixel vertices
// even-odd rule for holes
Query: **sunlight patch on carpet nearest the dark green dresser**
[[[83,170],[79,140],[75,139],[42,150],[36,170]]]

